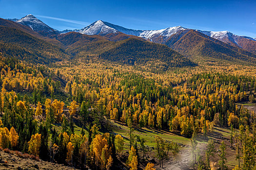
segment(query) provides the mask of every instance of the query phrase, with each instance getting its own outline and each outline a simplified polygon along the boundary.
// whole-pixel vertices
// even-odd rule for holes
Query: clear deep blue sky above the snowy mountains
[[[256,37],[256,0],[0,0],[0,17],[27,14],[58,30],[101,19],[131,29],[180,25]]]

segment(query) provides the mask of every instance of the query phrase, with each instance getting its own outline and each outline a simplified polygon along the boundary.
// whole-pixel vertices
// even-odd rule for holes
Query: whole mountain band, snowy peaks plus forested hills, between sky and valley
[[[142,31],[101,20],[81,30],[60,32],[33,15],[10,20],[0,19],[0,25],[7,27],[1,28],[2,53],[9,56],[17,53],[20,59],[34,63],[49,64],[85,56],[118,64],[159,65],[164,70],[208,61],[240,65],[256,63],[256,40],[229,32],[205,32],[180,26]],[[133,39],[125,41],[129,38]],[[147,41],[167,45],[179,54]]]

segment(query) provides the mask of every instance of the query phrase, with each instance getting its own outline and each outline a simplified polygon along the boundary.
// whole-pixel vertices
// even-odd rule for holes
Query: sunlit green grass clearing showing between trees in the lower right
[[[102,132],[100,134],[103,134],[103,132],[106,132],[106,131],[109,131],[110,133],[113,132],[114,134],[120,134],[124,138],[124,143],[125,143],[123,153],[129,151],[130,141],[129,141],[128,126],[125,124],[122,124],[120,122],[117,122],[117,121],[108,120],[108,128],[106,130],[105,129],[106,128],[106,120],[104,120],[102,124],[103,124],[103,126],[102,126],[103,129],[101,129]],[[61,124],[53,124],[53,128],[55,128],[58,133],[61,132],[61,130],[62,130]],[[88,136],[88,128],[89,128],[89,125],[87,125],[86,130],[84,130],[84,133],[86,136]],[[156,136],[160,136],[166,141],[173,141],[173,142],[177,142],[177,143],[181,143],[181,144],[185,145],[185,146],[181,145],[181,147],[179,147],[179,149],[180,149],[179,156],[181,158],[178,160],[178,162],[185,160],[185,159],[190,160],[190,138],[180,136],[180,135],[177,135],[177,134],[174,134],[171,132],[167,132],[167,131],[158,131],[156,129],[151,129],[148,127],[139,128],[136,126],[136,127],[134,127],[134,129],[135,129],[135,131],[133,134],[143,137],[146,141],[145,145],[151,148],[149,150],[149,152],[147,153],[150,155],[151,158],[155,157],[155,151],[156,151],[155,138],[156,138]],[[82,128],[74,123],[74,130],[75,130],[75,134],[80,134]],[[236,160],[235,150],[230,148],[230,145],[231,145],[229,142],[230,134],[231,134],[230,128],[221,128],[221,127],[214,127],[214,131],[211,133],[208,133],[207,136],[203,136],[203,134],[199,132],[199,133],[197,133],[197,143],[198,143],[197,146],[201,150],[201,155],[204,155],[205,148],[206,148],[206,145],[207,145],[209,139],[213,139],[214,141],[217,141],[216,147],[215,147],[216,150],[218,149],[218,147],[220,145],[219,142],[224,140],[227,145],[227,163],[226,163],[226,165],[229,170],[232,170],[232,168],[234,168],[235,165],[238,164],[238,161]],[[155,149],[152,150],[152,147],[155,147]],[[138,148],[139,148],[139,143],[138,143]],[[139,153],[142,154],[141,151],[139,151]],[[169,160],[169,161],[171,161],[171,160]],[[216,153],[213,161],[218,162],[218,153]],[[172,162],[172,163],[175,163],[175,162]]]

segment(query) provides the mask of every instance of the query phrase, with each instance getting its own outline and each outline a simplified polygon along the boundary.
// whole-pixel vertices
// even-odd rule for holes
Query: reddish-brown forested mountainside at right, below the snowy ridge
[[[217,60],[243,65],[255,65],[256,54],[228,45],[195,30],[177,33],[166,42],[167,46],[190,59]]]

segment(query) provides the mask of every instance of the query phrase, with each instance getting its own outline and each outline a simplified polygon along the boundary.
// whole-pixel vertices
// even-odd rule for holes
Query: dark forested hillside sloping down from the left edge
[[[34,64],[50,64],[69,56],[58,46],[15,28],[0,26],[0,52]]]

